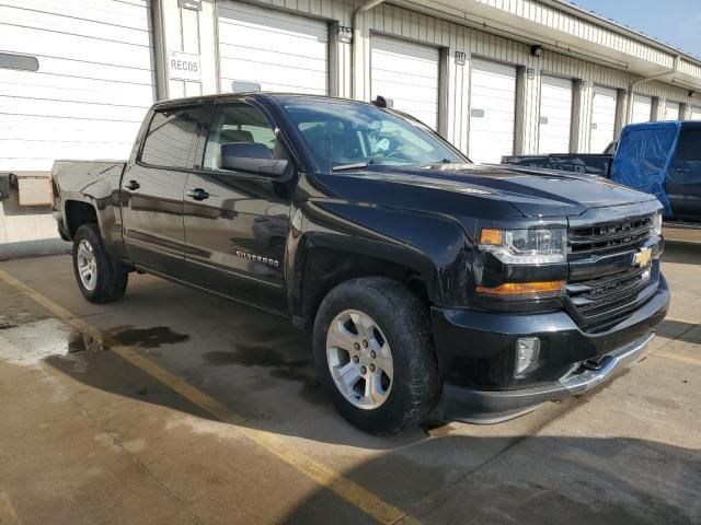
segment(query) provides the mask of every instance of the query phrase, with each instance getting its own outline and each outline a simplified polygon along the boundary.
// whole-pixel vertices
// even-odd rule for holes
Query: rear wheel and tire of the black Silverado
[[[129,279],[128,272],[118,268],[105,249],[97,224],[83,224],[76,232],[73,272],[84,298],[96,304],[122,299]]]

